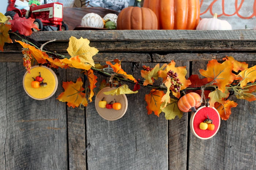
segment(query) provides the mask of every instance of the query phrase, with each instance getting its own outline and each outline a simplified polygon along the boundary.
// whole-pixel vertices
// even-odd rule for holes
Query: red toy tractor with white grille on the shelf
[[[18,9],[15,7],[15,0],[8,0],[8,7],[5,16],[14,17],[18,13],[19,17],[26,17],[26,9]],[[63,23],[63,4],[49,3],[43,5],[31,4],[29,16],[35,19],[34,24],[38,26],[40,31],[50,31],[57,28],[57,31],[68,30],[68,25]],[[33,31],[37,31],[33,29]]]

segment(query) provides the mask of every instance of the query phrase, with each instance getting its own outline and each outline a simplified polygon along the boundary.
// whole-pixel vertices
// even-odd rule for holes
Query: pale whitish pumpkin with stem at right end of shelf
[[[231,30],[232,26],[226,20],[217,18],[217,13],[214,13],[212,18],[203,18],[197,25],[197,30]]]

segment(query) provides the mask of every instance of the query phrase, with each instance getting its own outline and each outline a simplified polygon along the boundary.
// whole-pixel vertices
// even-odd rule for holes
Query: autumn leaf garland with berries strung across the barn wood
[[[198,75],[191,75],[188,79],[186,67],[176,67],[176,63],[156,64],[154,68],[148,70],[141,70],[141,77],[143,80],[135,79],[132,75],[127,74],[121,68],[121,61],[114,60],[114,64],[110,61],[106,62],[105,66],[95,64],[93,56],[97,54],[98,50],[90,47],[88,39],[71,36],[69,39],[69,46],[67,52],[71,57],[63,56],[44,48],[38,47],[35,43],[23,38],[20,34],[25,36],[30,35],[31,28],[36,26],[31,24],[33,19],[20,19],[16,16],[12,24],[7,24],[8,19],[0,15],[0,50],[3,51],[4,43],[12,43],[9,37],[10,30],[16,36],[20,37],[22,41],[16,41],[23,47],[24,66],[29,71],[31,65],[43,64],[53,68],[69,68],[74,67],[84,70],[84,74],[88,80],[88,88],[83,88],[81,78],[78,78],[76,83],[63,82],[64,92],[58,96],[60,102],[67,102],[69,107],[87,106],[88,102],[92,102],[94,96],[94,88],[97,83],[97,76],[99,73],[109,77],[109,83],[117,88],[108,92],[109,95],[119,94],[133,94],[137,93],[140,86],[151,88],[149,94],[146,94],[145,100],[147,103],[147,113],[159,116],[161,112],[165,113],[167,120],[174,119],[176,116],[182,117],[182,112],[177,107],[178,99],[181,97],[181,91],[197,92],[200,94],[204,102],[209,102],[219,111],[223,120],[227,120],[231,114],[231,108],[236,107],[237,103],[230,100],[230,95],[234,94],[237,99],[245,99],[249,102],[256,100],[256,66],[248,68],[248,64],[238,62],[231,56],[223,58],[223,62],[219,63],[217,60],[210,60],[207,64],[206,70],[200,69],[199,72],[205,78],[199,79]],[[18,22],[25,22],[24,25],[19,25]],[[15,24],[13,24],[15,23]],[[27,25],[30,25],[27,27]],[[17,33],[18,32],[18,33]],[[179,86],[179,92],[173,91],[173,82],[167,76],[167,72],[172,70],[178,76],[178,80],[182,82]],[[161,79],[161,84],[156,86],[155,80]],[[133,90],[130,90],[125,82],[134,83]],[[102,84],[103,82],[101,82]],[[106,82],[105,82],[106,83]],[[172,97],[171,97],[172,96]]]

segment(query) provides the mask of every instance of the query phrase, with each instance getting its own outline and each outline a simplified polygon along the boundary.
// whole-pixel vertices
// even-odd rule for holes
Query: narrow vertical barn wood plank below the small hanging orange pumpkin
[[[189,62],[176,62],[175,67],[181,66],[186,66],[188,78]],[[187,113],[183,113],[181,119],[176,116],[174,120],[168,120],[169,169],[187,169],[188,122]]]

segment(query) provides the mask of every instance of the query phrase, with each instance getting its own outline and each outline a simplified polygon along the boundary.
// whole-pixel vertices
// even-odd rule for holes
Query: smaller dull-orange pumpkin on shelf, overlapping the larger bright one
[[[117,17],[117,29],[157,29],[155,13],[140,7],[141,0],[135,0],[134,7],[124,8]]]

